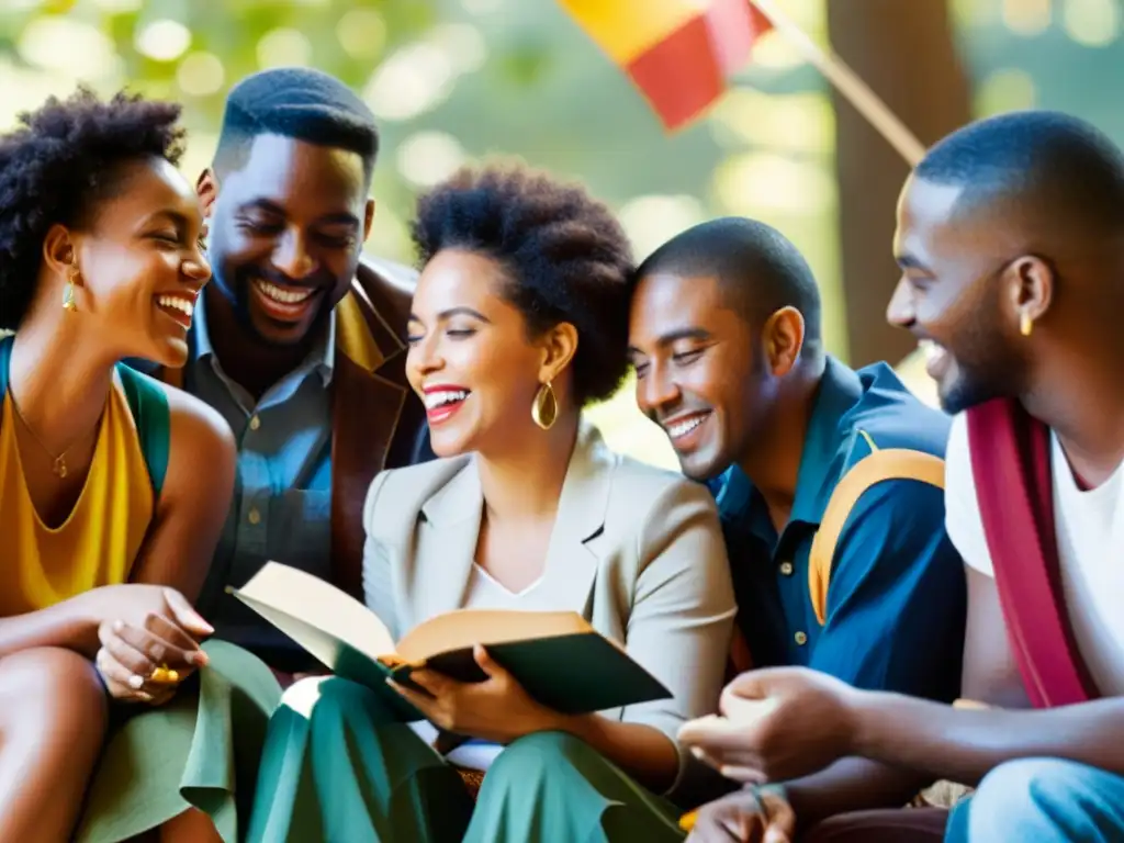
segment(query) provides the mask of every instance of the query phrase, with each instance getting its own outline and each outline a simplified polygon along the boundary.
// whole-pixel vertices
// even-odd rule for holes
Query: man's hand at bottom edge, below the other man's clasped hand
[[[687,843],[791,843],[796,814],[780,787],[747,787],[696,812]]]

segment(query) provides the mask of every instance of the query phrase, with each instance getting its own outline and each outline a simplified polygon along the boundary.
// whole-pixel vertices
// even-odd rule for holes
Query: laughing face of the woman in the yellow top
[[[73,318],[120,357],[180,366],[196,300],[210,278],[199,205],[163,158],[126,164],[119,178],[111,197],[91,209],[90,224],[60,246],[61,260],[80,271]]]

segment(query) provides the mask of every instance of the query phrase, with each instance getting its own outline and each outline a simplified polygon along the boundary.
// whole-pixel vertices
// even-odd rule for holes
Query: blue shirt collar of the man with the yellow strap
[[[796,478],[796,499],[790,522],[819,524],[835,488],[836,455],[849,435],[845,417],[862,398],[859,374],[832,356],[816,388],[812,417],[800,452]],[[753,482],[737,465],[731,465],[708,483],[724,520],[752,522],[758,496]]]

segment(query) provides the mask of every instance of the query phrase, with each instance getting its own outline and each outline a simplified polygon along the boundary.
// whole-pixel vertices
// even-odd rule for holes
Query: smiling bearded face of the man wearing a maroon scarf
[[[903,275],[887,318],[926,348],[941,406],[959,413],[1018,395],[1030,377],[1009,275],[1023,244],[997,220],[958,214],[962,188],[910,178],[898,202]]]

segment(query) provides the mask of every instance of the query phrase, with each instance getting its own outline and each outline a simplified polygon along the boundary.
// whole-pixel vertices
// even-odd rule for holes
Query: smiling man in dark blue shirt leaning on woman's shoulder
[[[943,455],[949,419],[885,363],[855,372],[825,353],[818,289],[796,247],[740,218],[685,232],[637,270],[629,345],[641,409],[683,472],[715,492],[753,665],[953,700],[966,595],[939,486],[890,479],[858,497],[830,560],[823,623],[817,615],[809,556],[839,483],[876,450]],[[697,833],[725,840],[719,830],[767,818],[807,826],[900,806],[924,783],[844,759],[711,803]]]

